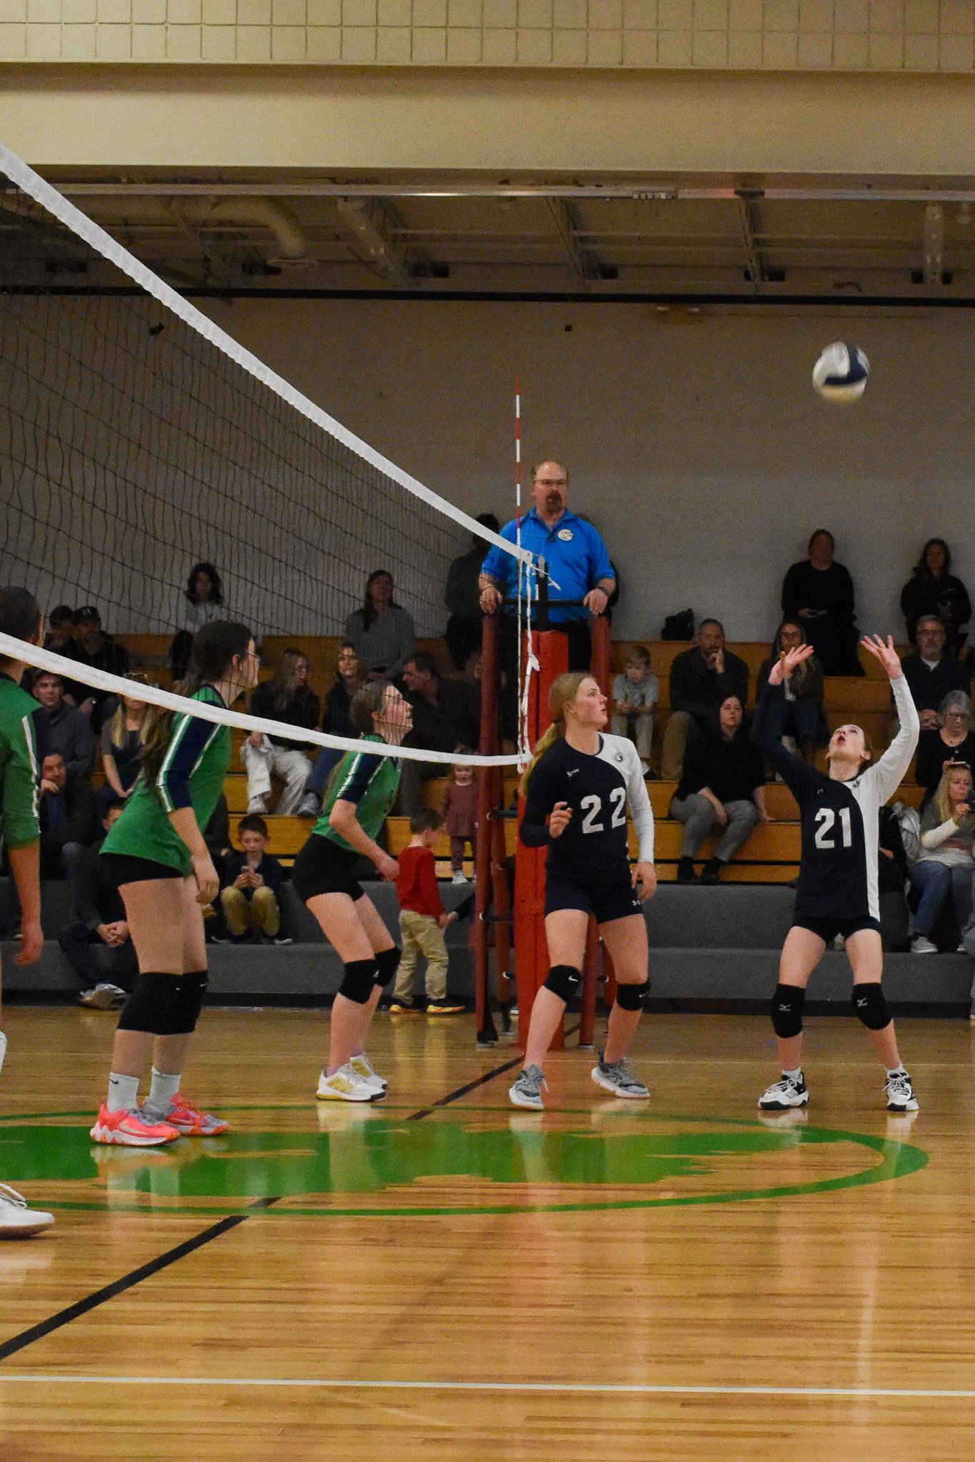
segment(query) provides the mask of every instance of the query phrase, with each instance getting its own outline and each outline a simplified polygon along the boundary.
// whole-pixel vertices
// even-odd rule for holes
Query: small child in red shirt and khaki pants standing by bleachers
[[[390,1012],[415,1015],[414,978],[421,956],[427,961],[427,1015],[455,1015],[462,1004],[450,1004],[447,999],[447,946],[443,931],[453,924],[456,914],[444,914],[437,887],[437,866],[433,845],[440,832],[440,813],[421,807],[409,819],[409,846],[399,854],[396,896],[399,898],[399,930],[402,958],[396,971],[396,984]]]

